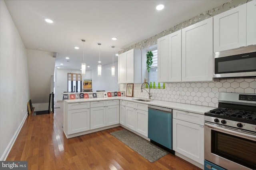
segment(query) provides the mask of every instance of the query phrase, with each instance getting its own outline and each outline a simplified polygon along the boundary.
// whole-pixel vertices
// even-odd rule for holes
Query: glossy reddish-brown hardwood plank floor
[[[27,117],[6,160],[27,160],[29,170],[201,170],[170,153],[149,162],[110,135],[122,127],[66,139],[62,101],[55,107]]]

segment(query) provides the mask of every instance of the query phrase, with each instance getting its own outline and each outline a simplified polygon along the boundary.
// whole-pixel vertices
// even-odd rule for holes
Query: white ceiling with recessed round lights
[[[112,56],[228,0],[5,0],[27,49],[58,53],[56,67],[112,63]],[[164,9],[156,10],[158,4]],[[47,23],[49,18],[53,23]],[[118,38],[113,41],[111,38]],[[82,39],[85,39],[84,48]],[[98,43],[100,45],[100,49]],[[80,47],[76,50],[74,47]],[[112,46],[115,46],[114,51]],[[69,57],[70,59],[65,59]],[[114,56],[114,62],[117,57]],[[60,65],[63,63],[63,65]]]

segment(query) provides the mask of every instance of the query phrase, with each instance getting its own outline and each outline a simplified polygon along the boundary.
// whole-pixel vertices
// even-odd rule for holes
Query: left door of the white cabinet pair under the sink
[[[136,129],[136,110],[132,107],[125,107],[125,126],[134,130]]]

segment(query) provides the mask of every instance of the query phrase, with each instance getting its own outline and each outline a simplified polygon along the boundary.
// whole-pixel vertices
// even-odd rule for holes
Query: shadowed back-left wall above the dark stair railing
[[[51,76],[55,59],[52,52],[27,49],[30,98],[34,111],[48,110],[51,92]]]

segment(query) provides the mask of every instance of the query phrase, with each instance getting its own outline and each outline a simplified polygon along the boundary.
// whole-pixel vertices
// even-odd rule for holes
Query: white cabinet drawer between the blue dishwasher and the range
[[[180,119],[183,121],[196,123],[198,125],[204,125],[204,115],[200,115],[197,113],[191,113],[188,111],[180,111],[180,110],[173,110],[172,116],[175,119]]]

